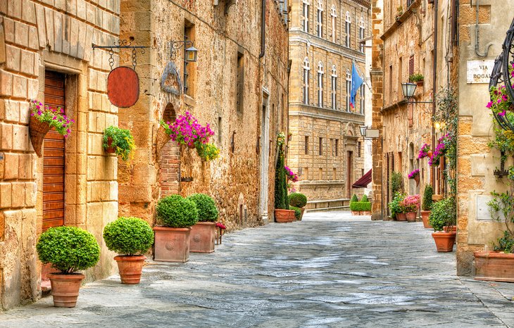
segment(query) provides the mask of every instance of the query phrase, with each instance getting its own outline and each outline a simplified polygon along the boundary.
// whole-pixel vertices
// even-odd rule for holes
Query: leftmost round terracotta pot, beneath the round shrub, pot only
[[[81,273],[49,273],[54,306],[58,308],[75,308],[79,297],[80,283],[84,279]]]

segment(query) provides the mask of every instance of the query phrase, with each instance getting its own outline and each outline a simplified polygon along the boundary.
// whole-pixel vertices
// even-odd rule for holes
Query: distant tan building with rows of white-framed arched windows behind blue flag
[[[321,207],[341,205],[364,170],[365,84],[349,104],[352,62],[365,78],[371,34],[368,1],[292,1],[289,56],[289,158],[297,191]]]

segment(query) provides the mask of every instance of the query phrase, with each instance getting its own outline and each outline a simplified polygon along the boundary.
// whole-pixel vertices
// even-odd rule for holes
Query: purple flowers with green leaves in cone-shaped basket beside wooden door
[[[39,122],[45,122],[50,127],[55,127],[58,134],[63,135],[65,138],[71,134],[71,126],[75,120],[68,118],[64,115],[64,109],[61,107],[51,108],[44,106],[41,101],[30,101],[30,116]]]

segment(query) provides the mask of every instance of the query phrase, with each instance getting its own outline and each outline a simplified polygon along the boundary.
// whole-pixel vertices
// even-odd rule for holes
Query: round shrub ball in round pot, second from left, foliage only
[[[153,230],[139,217],[118,217],[104,228],[104,240],[118,254],[142,254],[153,244]]]

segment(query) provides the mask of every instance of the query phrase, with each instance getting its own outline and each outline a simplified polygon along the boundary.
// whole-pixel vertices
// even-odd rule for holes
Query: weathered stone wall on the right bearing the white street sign
[[[491,249],[491,242],[501,235],[504,225],[487,215],[477,217],[480,208],[487,207],[491,191],[506,190],[506,177],[497,179],[493,172],[500,165],[500,153],[487,146],[494,138],[490,112],[488,84],[468,84],[467,65],[472,60],[493,60],[501,53],[514,12],[514,1],[480,1],[479,57],[475,52],[475,1],[461,1],[459,8],[458,47],[458,220],[457,273],[472,274],[473,251]],[[501,13],[501,14],[499,14]],[[492,46],[487,51],[486,45]]]

